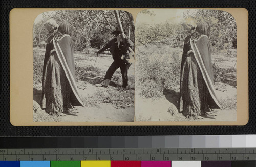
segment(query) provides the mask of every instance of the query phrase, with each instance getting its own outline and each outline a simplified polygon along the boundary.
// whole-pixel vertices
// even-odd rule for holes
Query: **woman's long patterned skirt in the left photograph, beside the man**
[[[50,55],[43,79],[42,108],[49,114],[67,112],[71,87],[56,53]]]

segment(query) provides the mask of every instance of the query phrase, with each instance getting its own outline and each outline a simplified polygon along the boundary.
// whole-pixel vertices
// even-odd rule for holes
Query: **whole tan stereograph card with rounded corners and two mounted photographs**
[[[246,125],[244,8],[10,11],[14,126]]]

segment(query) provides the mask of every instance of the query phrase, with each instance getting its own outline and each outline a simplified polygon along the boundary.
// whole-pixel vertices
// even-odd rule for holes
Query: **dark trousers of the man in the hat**
[[[114,62],[110,65],[108,71],[106,71],[104,80],[106,79],[111,80],[113,74],[119,67],[120,67],[122,78],[123,78],[122,87],[127,87],[128,86],[128,70],[129,70],[130,64],[124,64],[121,61],[114,60]]]

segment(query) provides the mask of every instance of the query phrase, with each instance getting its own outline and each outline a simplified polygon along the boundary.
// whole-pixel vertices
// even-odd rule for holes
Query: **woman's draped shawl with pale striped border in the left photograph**
[[[71,103],[72,105],[83,105],[75,82],[75,62],[72,39],[69,35],[63,35],[59,39],[54,38],[53,45],[72,89]]]

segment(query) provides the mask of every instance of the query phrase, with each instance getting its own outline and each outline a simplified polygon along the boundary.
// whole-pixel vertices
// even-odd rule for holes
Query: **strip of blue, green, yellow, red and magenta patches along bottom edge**
[[[0,161],[0,167],[255,167],[256,161]]]

